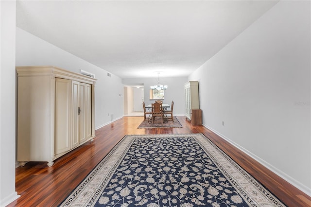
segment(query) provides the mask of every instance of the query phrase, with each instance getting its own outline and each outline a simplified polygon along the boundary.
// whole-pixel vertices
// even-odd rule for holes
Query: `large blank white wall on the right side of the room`
[[[309,195],[310,10],[278,2],[189,77],[200,81],[205,126]]]

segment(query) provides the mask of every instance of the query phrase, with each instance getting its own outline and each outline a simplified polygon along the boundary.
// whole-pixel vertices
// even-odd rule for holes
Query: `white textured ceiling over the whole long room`
[[[276,1],[17,1],[17,27],[121,78],[188,76]]]

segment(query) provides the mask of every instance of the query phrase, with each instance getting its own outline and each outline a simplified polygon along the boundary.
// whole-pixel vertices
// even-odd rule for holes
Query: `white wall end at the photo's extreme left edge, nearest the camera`
[[[0,1],[0,206],[18,198],[15,191],[15,1]]]

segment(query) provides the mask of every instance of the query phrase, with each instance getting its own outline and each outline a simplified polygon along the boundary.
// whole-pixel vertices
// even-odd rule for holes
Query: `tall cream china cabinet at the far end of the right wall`
[[[185,107],[186,117],[191,120],[192,109],[199,107],[199,82],[189,81],[185,83]]]

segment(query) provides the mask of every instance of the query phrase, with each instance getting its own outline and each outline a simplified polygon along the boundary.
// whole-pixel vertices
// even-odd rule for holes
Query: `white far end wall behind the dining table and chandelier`
[[[144,101],[145,104],[154,103],[154,100],[149,100],[150,86],[157,84],[157,78],[128,78],[123,79],[123,84],[143,84],[144,85]],[[173,115],[185,115],[185,92],[184,84],[188,81],[187,77],[161,78],[161,84],[168,85],[168,89],[164,91],[164,104],[170,104],[174,101]],[[142,106],[141,106],[142,107]]]

